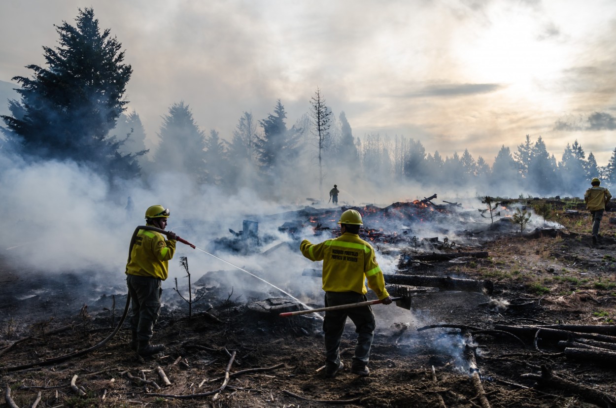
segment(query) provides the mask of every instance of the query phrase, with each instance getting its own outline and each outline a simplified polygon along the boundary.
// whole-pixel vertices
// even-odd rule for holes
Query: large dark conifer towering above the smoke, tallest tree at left
[[[139,174],[134,153],[118,152],[121,141],[109,137],[128,101],[132,68],[125,65],[121,43],[99,28],[94,10],[79,9],[76,27],[54,25],[59,46],[43,47],[46,67],[28,65],[32,78],[15,76],[20,101],[2,116],[7,137],[17,139],[26,155],[87,163],[102,174]]]

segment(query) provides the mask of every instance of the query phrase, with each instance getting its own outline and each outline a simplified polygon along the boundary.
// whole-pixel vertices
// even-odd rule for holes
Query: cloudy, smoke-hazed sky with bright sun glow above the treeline
[[[123,44],[129,109],[152,145],[175,102],[229,139],[277,99],[293,124],[318,87],[354,136],[443,157],[492,163],[527,134],[557,160],[575,140],[599,165],[616,147],[614,0],[3,0],[0,81],[43,65],[54,24],[74,25],[79,7]]]

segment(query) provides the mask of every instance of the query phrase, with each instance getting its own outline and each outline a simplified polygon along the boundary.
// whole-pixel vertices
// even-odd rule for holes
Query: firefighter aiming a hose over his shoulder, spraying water
[[[165,229],[169,209],[153,205],[145,211],[148,226]],[[126,264],[126,285],[131,295],[131,348],[141,356],[163,351],[163,345],[151,345],[152,330],[160,316],[161,282],[169,275],[169,259],[176,251],[176,234],[169,232],[168,240],[156,231],[141,229],[131,248]]]

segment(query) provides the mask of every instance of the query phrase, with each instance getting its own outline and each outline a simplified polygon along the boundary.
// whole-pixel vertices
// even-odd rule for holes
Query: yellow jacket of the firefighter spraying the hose
[[[175,252],[175,240],[165,240],[160,232],[141,229],[132,246],[126,274],[165,280],[169,276],[169,259]]]

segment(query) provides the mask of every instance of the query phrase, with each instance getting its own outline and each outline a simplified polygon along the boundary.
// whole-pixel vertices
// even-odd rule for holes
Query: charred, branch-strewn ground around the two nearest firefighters
[[[126,295],[108,293],[85,305],[71,288],[91,285],[97,293],[100,288],[87,274],[59,278],[2,262],[2,394],[9,386],[19,407],[31,406],[38,393],[38,407],[613,406],[616,351],[580,358],[564,353],[545,333],[535,340],[502,330],[556,324],[616,329],[615,230],[605,221],[598,245],[570,229],[554,237],[509,234],[456,248],[488,251],[488,258],[418,264],[405,272],[490,279],[495,290],[416,293],[411,311],[373,306],[378,327],[367,378],[348,369],[355,338],[351,322],[341,348],[347,368],[324,378],[317,317],[258,311],[245,302],[248,296],[227,288],[206,290],[190,320],[182,301],[163,309],[153,340],[167,346],[164,354],[137,356],[128,348],[125,323],[106,345],[84,356],[15,370],[99,343],[117,324]],[[473,341],[484,401],[472,381],[464,334]],[[612,336],[616,339],[614,330]],[[164,385],[158,367],[171,385]],[[542,370],[553,381],[538,382]]]

